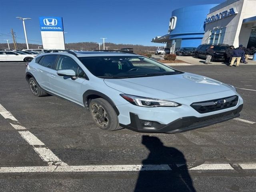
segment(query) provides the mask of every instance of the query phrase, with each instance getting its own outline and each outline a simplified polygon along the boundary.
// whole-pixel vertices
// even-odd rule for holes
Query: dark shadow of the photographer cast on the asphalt
[[[154,136],[142,136],[142,144],[150,150],[143,165],[166,164],[172,170],[140,171],[134,192],[196,192],[182,152]]]

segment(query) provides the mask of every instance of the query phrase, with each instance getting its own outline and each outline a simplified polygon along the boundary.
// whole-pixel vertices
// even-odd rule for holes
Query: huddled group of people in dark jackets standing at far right
[[[247,60],[250,55],[253,55],[254,47],[245,48],[243,45],[239,45],[238,48],[234,49],[234,46],[231,45],[225,51],[225,60],[229,66],[234,66],[234,62],[236,61],[235,66],[239,66],[240,61],[242,60],[243,63],[247,63]]]

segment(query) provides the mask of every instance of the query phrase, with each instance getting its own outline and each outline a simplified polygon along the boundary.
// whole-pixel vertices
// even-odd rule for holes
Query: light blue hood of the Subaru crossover
[[[126,79],[104,79],[107,86],[136,96],[158,99],[190,97],[231,90],[232,87],[204,76],[183,73]]]

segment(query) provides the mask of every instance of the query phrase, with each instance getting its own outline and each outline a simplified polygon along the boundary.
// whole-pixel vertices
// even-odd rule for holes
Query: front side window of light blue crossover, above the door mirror
[[[66,70],[66,69],[71,69],[77,73],[78,64],[69,56],[60,55],[57,62],[56,70]]]

